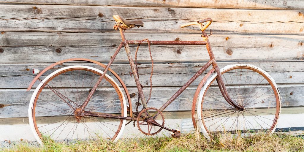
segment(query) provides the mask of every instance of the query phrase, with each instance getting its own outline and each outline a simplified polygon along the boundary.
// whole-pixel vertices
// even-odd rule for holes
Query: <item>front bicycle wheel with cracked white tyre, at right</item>
[[[228,94],[244,110],[230,105],[222,96],[215,73],[200,88],[197,123],[204,136],[210,133],[256,133],[275,131],[281,98],[270,75],[249,64],[228,65],[220,70]]]

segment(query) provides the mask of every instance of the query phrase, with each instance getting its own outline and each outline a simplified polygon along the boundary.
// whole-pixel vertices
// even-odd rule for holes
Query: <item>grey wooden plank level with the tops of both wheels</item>
[[[219,62],[220,68],[229,64],[247,63],[252,64],[268,72],[278,84],[299,84],[304,83],[304,62]],[[184,85],[205,63],[159,63],[154,65],[152,77],[153,86],[182,86]],[[43,70],[50,63],[20,63],[0,64],[0,88],[27,88],[35,76],[32,69]],[[100,69],[99,66],[90,63],[64,63],[47,71],[41,79],[61,67],[71,65],[86,65]],[[126,86],[136,86],[134,78],[130,76],[129,64],[113,64],[111,68],[119,74]],[[151,64],[138,65],[140,82],[143,86],[150,86]],[[210,68],[209,68],[210,69]],[[29,70],[29,71],[27,71]],[[205,71],[191,85],[196,86],[202,80]],[[108,73],[109,74],[109,73]],[[110,74],[110,76],[112,76]],[[116,79],[115,79],[116,80]],[[117,81],[117,80],[116,80]],[[118,82],[118,81],[117,81]],[[39,81],[33,87],[38,85]],[[68,85],[68,84],[67,84]],[[69,86],[68,86],[69,87]]]

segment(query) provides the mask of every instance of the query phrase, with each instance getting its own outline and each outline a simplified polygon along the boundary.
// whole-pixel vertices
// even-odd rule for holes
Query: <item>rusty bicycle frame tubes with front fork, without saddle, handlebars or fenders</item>
[[[119,27],[119,32],[121,34],[122,37],[122,42],[120,43],[119,47],[117,48],[117,50],[115,51],[115,53],[113,54],[111,60],[109,61],[107,67],[104,70],[104,73],[102,74],[102,76],[98,79],[97,83],[95,84],[95,86],[93,87],[92,91],[89,93],[88,98],[85,100],[85,102],[81,105],[81,109],[80,111],[83,111],[85,109],[85,106],[88,104],[88,101],[90,100],[90,98],[92,97],[93,93],[95,92],[95,90],[97,89],[98,85],[100,84],[102,78],[104,77],[105,73],[107,72],[107,70],[109,69],[109,67],[111,66],[111,64],[113,63],[116,55],[119,53],[120,49],[122,48],[122,46],[125,47],[126,50],[126,54],[128,56],[129,59],[129,63],[132,69],[132,73],[134,76],[134,80],[138,89],[138,93],[141,99],[141,102],[143,104],[143,108],[146,109],[147,108],[147,102],[146,99],[143,95],[143,90],[141,88],[140,85],[140,81],[139,81],[139,77],[137,75],[137,69],[136,66],[134,65],[133,62],[133,58],[129,49],[129,44],[135,44],[135,45],[139,45],[139,44],[148,44],[147,41],[140,41],[140,40],[126,40],[125,34],[124,34],[124,29]],[[230,98],[227,90],[226,90],[226,86],[223,83],[223,79],[221,77],[221,73],[220,73],[220,69],[216,64],[216,60],[214,57],[214,54],[212,52],[209,40],[208,40],[208,36],[206,34],[206,32],[204,30],[202,30],[202,37],[203,37],[203,41],[149,41],[149,43],[151,45],[206,45],[210,60],[192,77],[190,78],[185,85],[183,85],[164,105],[161,106],[161,108],[159,109],[161,112],[164,111],[164,109],[166,109],[168,107],[168,105],[170,105],[175,98],[177,98],[189,85],[192,84],[192,82],[194,80],[196,80],[196,78],[199,77],[200,74],[202,74],[202,72],[204,72],[209,66],[212,65],[212,69],[208,72],[208,74],[206,75],[207,78],[210,76],[210,74],[214,71],[217,72],[218,74],[218,78],[216,79],[219,85],[219,89],[223,95],[223,97],[226,99],[226,101],[236,107],[237,109],[244,109],[243,107],[240,107],[239,105],[237,105],[235,102],[233,102],[233,100]],[[132,111],[130,111],[131,113]],[[86,113],[85,116],[98,116],[98,117],[105,117],[105,118],[118,118],[118,119],[128,119],[128,120],[133,120],[132,118],[128,118],[128,117],[120,117],[120,116],[112,116],[112,115],[104,115],[104,114],[92,114],[92,113]]]

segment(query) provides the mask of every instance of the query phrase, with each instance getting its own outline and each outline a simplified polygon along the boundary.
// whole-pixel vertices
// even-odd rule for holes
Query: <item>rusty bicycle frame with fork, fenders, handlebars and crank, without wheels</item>
[[[207,22],[207,24],[205,24],[205,22]],[[116,49],[115,53],[112,55],[112,58],[110,59],[109,63],[107,64],[107,66],[105,67],[103,65],[103,67],[105,68],[105,70],[103,71],[103,74],[100,76],[100,78],[98,79],[97,83],[94,85],[94,87],[92,88],[91,92],[89,93],[88,97],[86,98],[85,102],[81,105],[81,107],[79,109],[77,109],[77,112],[78,112],[78,115],[81,115],[81,116],[94,116],[94,117],[103,117],[103,118],[111,118],[111,119],[126,119],[126,120],[134,120],[136,121],[137,120],[137,117],[138,116],[138,113],[136,112],[133,112],[132,111],[132,106],[130,105],[130,107],[128,107],[129,109],[129,112],[130,112],[130,116],[127,116],[127,117],[123,117],[123,116],[117,116],[117,115],[114,115],[114,114],[106,114],[106,113],[96,113],[96,112],[89,112],[89,111],[85,111],[85,107],[86,105],[88,105],[88,102],[90,100],[90,98],[92,97],[92,95],[94,94],[94,92],[96,91],[98,85],[101,83],[102,81],[102,78],[105,76],[106,72],[109,70],[111,72],[113,72],[109,67],[111,66],[111,64],[113,63],[114,59],[116,58],[116,55],[119,53],[120,49],[124,46],[125,47],[125,50],[126,50],[126,54],[128,56],[128,59],[129,59],[129,63],[130,63],[130,66],[131,66],[131,70],[132,70],[132,74],[134,76],[134,79],[135,79],[135,82],[136,82],[136,86],[137,86],[137,89],[138,89],[138,93],[139,93],[139,96],[140,96],[140,99],[141,99],[141,102],[142,102],[142,105],[143,105],[143,109],[147,109],[147,101],[143,95],[143,89],[140,85],[140,81],[139,81],[139,76],[138,76],[138,69],[136,68],[134,62],[133,62],[133,58],[132,58],[132,55],[131,55],[131,52],[130,52],[130,49],[129,49],[129,44],[130,45],[147,45],[147,44],[150,44],[150,45],[206,45],[206,48],[207,48],[207,51],[208,51],[208,54],[209,54],[209,57],[210,57],[210,60],[199,70],[197,71],[196,74],[194,74],[194,76],[192,78],[190,78],[186,83],[185,85],[183,85],[174,95],[172,95],[172,97],[164,104],[161,106],[161,108],[159,108],[158,110],[160,112],[163,112],[164,109],[166,109],[168,107],[168,105],[170,105],[189,85],[192,84],[193,81],[195,81],[199,75],[201,75],[208,67],[210,67],[212,65],[212,69],[205,75],[205,77],[202,79],[200,85],[198,87],[202,87],[202,85],[204,84],[204,82],[207,80],[207,78],[209,78],[209,76],[212,74],[212,73],[217,73],[218,77],[216,78],[216,81],[218,83],[218,87],[220,89],[220,92],[221,94],[223,95],[223,97],[225,98],[225,100],[230,104],[232,105],[233,107],[243,111],[244,110],[244,107],[241,107],[239,105],[237,105],[233,100],[232,98],[230,98],[230,95],[228,94],[227,92],[227,89],[226,89],[226,86],[223,82],[223,78],[221,76],[221,73],[220,73],[220,69],[219,67],[217,66],[217,63],[216,63],[216,60],[215,60],[215,57],[214,57],[214,54],[212,52],[212,49],[211,49],[211,46],[210,46],[210,43],[209,43],[209,39],[208,39],[208,35],[206,34],[205,32],[205,29],[211,24],[212,22],[212,19],[211,18],[207,18],[207,19],[202,19],[202,20],[199,20],[197,22],[191,22],[191,23],[187,23],[187,24],[184,24],[182,25],[181,27],[185,27],[185,26],[190,26],[190,25],[199,25],[199,28],[201,29],[202,31],[202,38],[203,40],[202,41],[150,41],[150,40],[147,40],[147,41],[143,41],[143,40],[127,40],[126,37],[125,37],[125,34],[124,34],[124,30],[125,28],[121,27],[121,26],[114,26],[115,29],[119,29],[119,32],[120,32],[120,35],[121,35],[121,38],[122,38],[122,42],[120,43],[119,47]],[[204,26],[204,27],[203,27]],[[132,27],[133,28],[133,27]],[[130,29],[130,28],[129,28]],[[211,32],[211,30],[210,30]],[[212,33],[211,33],[212,34]],[[210,34],[210,35],[211,35]],[[209,36],[210,36],[209,35]],[[71,59],[72,60],[72,59]],[[76,59],[75,59],[76,60]],[[84,59],[81,59],[81,60],[84,60]],[[63,60],[64,62],[66,62],[65,60]],[[69,61],[69,60],[67,60]],[[85,61],[89,61],[89,60],[85,60]],[[90,61],[90,62],[93,62],[95,63],[94,61]],[[96,62],[97,63],[97,62]],[[53,67],[54,65],[57,65],[57,64],[60,64],[60,62],[57,62],[55,64],[52,64],[49,66],[50,67]],[[101,64],[100,64],[101,65]],[[49,68],[46,68],[45,70],[42,71],[45,72],[47,71]],[[41,74],[42,74],[41,73]],[[32,81],[32,83],[30,84],[28,90],[32,87],[33,83],[38,79],[38,77],[41,75],[37,75],[37,77]],[[119,80],[120,81],[120,80]],[[122,82],[123,83],[123,82]],[[123,87],[125,88],[125,86],[123,85]],[[126,90],[126,88],[125,88]],[[127,93],[127,92],[126,92]],[[195,95],[194,95],[194,100],[197,98],[199,92],[195,92]],[[196,100],[195,100],[196,101]],[[129,103],[130,104],[130,103]],[[193,109],[195,109],[195,103],[192,104],[192,115],[194,115],[194,111]],[[132,114],[135,114],[136,116],[134,117]],[[141,118],[140,118],[141,119]],[[192,120],[194,122],[194,117],[192,116]],[[171,129],[168,129],[164,126],[161,126],[160,124],[158,123],[154,123],[154,122],[151,122],[153,123],[154,125],[156,126],[159,126],[161,128],[164,128],[166,130],[169,130],[169,131],[172,131]],[[194,122],[195,123],[195,122]]]

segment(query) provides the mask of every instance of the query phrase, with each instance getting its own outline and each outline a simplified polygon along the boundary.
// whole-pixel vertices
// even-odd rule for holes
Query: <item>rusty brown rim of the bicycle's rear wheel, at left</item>
[[[33,103],[33,111],[32,111],[32,118],[33,118],[33,123],[34,123],[34,127],[35,127],[35,130],[36,130],[36,132],[37,132],[37,134],[38,134],[38,136],[42,139],[42,134],[40,133],[40,131],[39,131],[39,127],[37,126],[37,123],[36,123],[36,104],[37,104],[37,100],[38,100],[38,98],[39,98],[39,95],[40,95],[40,93],[42,92],[42,90],[44,89],[44,87],[46,87],[47,86],[47,84],[50,82],[50,81],[52,81],[54,78],[56,78],[58,75],[60,75],[60,74],[62,74],[62,73],[66,73],[66,72],[69,72],[69,71],[79,71],[79,70],[83,70],[83,71],[89,71],[89,72],[92,72],[92,73],[95,73],[95,74],[98,74],[99,76],[101,76],[101,73],[99,73],[99,72],[97,72],[97,71],[94,71],[94,70],[92,70],[92,69],[87,69],[87,68],[71,68],[71,69],[66,69],[66,70],[64,70],[64,71],[60,71],[60,72],[58,72],[57,74],[54,74],[51,78],[49,78],[45,83],[44,83],[44,85],[42,85],[42,87],[39,89],[39,91],[38,91],[38,93],[37,93],[37,95],[36,95],[36,97],[35,97],[35,100],[34,100],[34,103]],[[73,76],[73,78],[74,78],[74,76]],[[119,98],[119,100],[120,100],[120,108],[121,108],[121,114],[120,114],[120,116],[124,116],[124,106],[123,106],[123,97],[122,97],[122,95],[119,93],[119,86],[116,86],[115,85],[115,83],[112,81],[112,80],[110,80],[109,78],[107,78],[107,77],[104,77],[104,80],[105,80],[105,82],[107,81],[107,82],[109,82],[109,84],[111,85],[110,87],[113,87],[114,89],[115,89],[115,92],[117,93],[117,95],[118,95],[118,98]],[[86,117],[86,118],[88,118],[88,117]],[[97,120],[97,119],[96,119]],[[96,120],[93,120],[92,118],[91,118],[91,121],[96,121]],[[41,121],[41,119],[40,120],[38,120],[38,121]],[[120,122],[119,122],[120,121]],[[118,126],[118,128],[117,128],[117,131],[114,131],[115,132],[115,134],[113,135],[113,137],[107,137],[108,139],[110,139],[110,140],[115,140],[116,139],[116,137],[117,137],[117,135],[118,135],[118,133],[120,132],[120,130],[121,130],[121,128],[122,128],[122,125],[123,125],[123,120],[118,120],[118,122],[119,122],[119,124],[117,125]],[[86,122],[85,122],[86,123]],[[96,122],[95,122],[96,123]],[[83,125],[84,126],[84,125]],[[106,126],[103,126],[103,127],[106,127]],[[77,127],[76,127],[77,128]],[[84,127],[85,128],[85,127]],[[108,127],[109,128],[109,127]],[[87,130],[89,130],[89,127],[87,126],[87,128],[86,128]],[[110,128],[109,128],[110,129]],[[91,129],[92,130],[92,129]],[[113,131],[113,130],[112,130]],[[89,133],[89,131],[88,131],[88,133]],[[73,136],[74,136],[74,134],[73,134]],[[88,135],[88,136],[90,136],[90,135]],[[92,136],[92,134],[91,134],[91,136]],[[109,135],[108,135],[109,136]],[[92,136],[93,137],[93,136]],[[99,136],[97,135],[97,137],[99,138]]]

